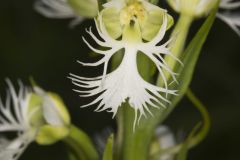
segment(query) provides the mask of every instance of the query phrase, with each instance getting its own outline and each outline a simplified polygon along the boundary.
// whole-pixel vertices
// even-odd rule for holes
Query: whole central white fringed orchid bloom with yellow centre
[[[91,28],[87,30],[87,33],[98,45],[107,48],[107,50],[96,49],[85,38],[83,38],[88,47],[92,51],[103,55],[103,58],[95,63],[83,63],[80,61],[79,63],[84,66],[98,66],[104,64],[103,75],[93,78],[85,78],[75,74],[70,74],[69,78],[72,80],[73,84],[85,89],[74,90],[80,93],[80,96],[89,97],[99,95],[93,102],[82,107],[94,105],[99,102],[95,111],[107,110],[108,112],[112,112],[114,117],[121,104],[128,100],[131,107],[135,110],[135,128],[136,121],[138,120],[139,122],[142,116],[146,117],[145,111],[152,114],[149,106],[155,108],[162,106],[165,108],[166,103],[171,103],[166,98],[166,95],[176,95],[176,90],[170,90],[168,88],[168,82],[164,76],[163,70],[171,73],[172,78],[177,82],[176,73],[174,73],[165,63],[163,56],[171,56],[176,61],[179,60],[167,47],[170,40],[159,45],[165,36],[168,25],[168,17],[165,10],[161,9],[161,11],[163,11],[162,24],[160,25],[161,27],[155,37],[148,42],[144,42],[140,29],[141,18],[144,19],[144,17],[142,17],[145,15],[143,11],[146,10],[146,7],[151,8],[153,6],[152,4],[146,1],[137,1],[128,6],[125,1],[113,0],[104,6],[106,8],[117,7],[116,9],[118,11],[121,11],[121,7],[123,7],[124,11],[127,11],[121,13],[124,18],[121,19],[120,17],[122,20],[121,23],[123,23],[122,37],[120,40],[116,40],[109,34],[109,31],[106,29],[104,24],[103,15],[100,13],[98,19],[95,19],[95,25],[101,39],[93,34]],[[156,9],[156,6],[153,6],[153,8]],[[114,17],[110,17],[110,19],[111,18]],[[148,29],[150,30],[151,28]],[[107,73],[111,57],[113,57],[115,53],[121,49],[124,49],[124,56],[119,67],[111,73]],[[164,87],[150,84],[140,76],[137,68],[137,54],[139,52],[145,54],[155,64],[165,82]]]

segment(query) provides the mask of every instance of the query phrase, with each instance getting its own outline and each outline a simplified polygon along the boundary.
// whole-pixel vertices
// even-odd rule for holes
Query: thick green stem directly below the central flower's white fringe
[[[114,160],[147,160],[149,145],[154,132],[151,126],[147,125],[146,119],[133,131],[134,109],[127,103],[121,106],[118,113],[118,137],[114,154]],[[148,117],[150,118],[150,117]]]

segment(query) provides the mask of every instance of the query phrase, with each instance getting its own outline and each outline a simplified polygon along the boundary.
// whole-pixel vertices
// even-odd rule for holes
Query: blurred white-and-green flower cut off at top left
[[[35,9],[48,18],[73,18],[70,25],[97,14],[97,0],[37,0]]]

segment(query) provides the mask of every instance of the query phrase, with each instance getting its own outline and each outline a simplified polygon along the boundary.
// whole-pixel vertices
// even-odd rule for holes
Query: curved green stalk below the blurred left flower
[[[78,160],[98,160],[98,154],[86,133],[75,126],[70,127],[70,134],[63,142]]]

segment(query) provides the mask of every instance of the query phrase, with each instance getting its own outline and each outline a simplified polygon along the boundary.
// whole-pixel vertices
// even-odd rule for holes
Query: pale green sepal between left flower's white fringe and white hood
[[[43,99],[35,93],[31,93],[29,96],[27,116],[29,118],[30,125],[38,127],[45,122],[42,110]]]

